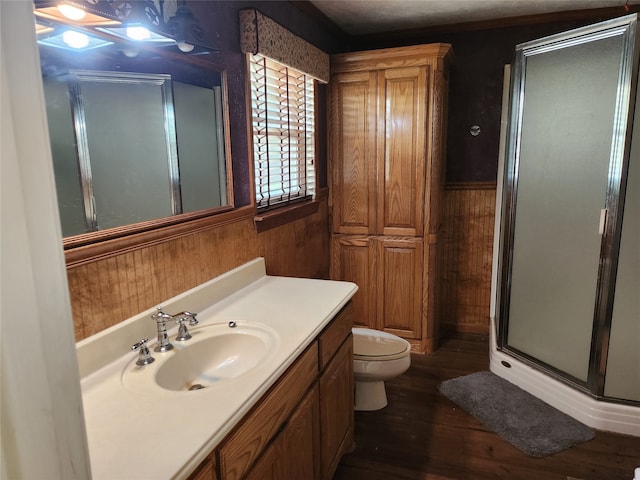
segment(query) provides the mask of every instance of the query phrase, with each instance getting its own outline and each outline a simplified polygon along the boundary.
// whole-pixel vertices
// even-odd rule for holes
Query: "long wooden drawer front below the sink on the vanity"
[[[244,477],[317,375],[318,345],[314,342],[227,437],[219,451],[221,480]]]

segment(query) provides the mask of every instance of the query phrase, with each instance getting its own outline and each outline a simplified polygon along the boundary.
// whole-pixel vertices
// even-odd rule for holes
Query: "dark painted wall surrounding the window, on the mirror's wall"
[[[212,63],[227,73],[229,119],[231,124],[231,153],[235,205],[251,203],[251,176],[248,161],[249,126],[247,119],[246,75],[244,54],[240,51],[238,12],[255,8],[263,14],[304,38],[325,52],[339,51],[344,38],[337,37],[317,19],[295,8],[288,1],[191,1],[189,7],[200,20],[206,33],[214,41],[218,53],[203,55],[202,60]],[[326,87],[321,86],[318,102],[317,129],[319,154],[317,160],[318,186],[327,185],[326,162]]]

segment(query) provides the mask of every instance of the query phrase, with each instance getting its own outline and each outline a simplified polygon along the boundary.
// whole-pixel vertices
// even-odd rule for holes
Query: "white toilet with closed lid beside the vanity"
[[[387,406],[384,381],[404,373],[411,365],[411,345],[404,338],[380,330],[353,328],[355,410]]]

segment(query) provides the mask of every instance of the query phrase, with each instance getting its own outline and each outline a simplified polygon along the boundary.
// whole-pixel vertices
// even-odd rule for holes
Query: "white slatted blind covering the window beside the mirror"
[[[314,80],[262,55],[249,55],[258,208],[315,193]]]

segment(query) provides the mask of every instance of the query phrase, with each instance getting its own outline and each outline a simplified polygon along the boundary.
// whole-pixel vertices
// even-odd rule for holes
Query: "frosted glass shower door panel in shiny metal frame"
[[[519,45],[512,80],[500,345],[585,388],[609,308],[633,23]]]

